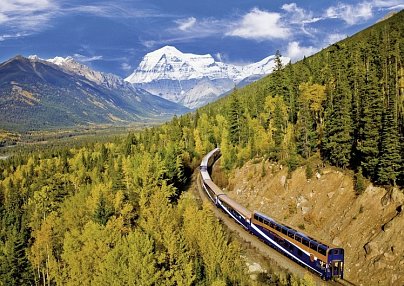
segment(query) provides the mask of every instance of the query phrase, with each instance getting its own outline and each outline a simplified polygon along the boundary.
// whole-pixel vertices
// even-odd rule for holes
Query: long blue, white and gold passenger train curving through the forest
[[[343,248],[314,239],[258,211],[250,211],[229,198],[211,179],[212,166],[220,157],[220,149],[215,148],[203,157],[199,167],[202,188],[216,207],[267,245],[324,280],[343,279]]]

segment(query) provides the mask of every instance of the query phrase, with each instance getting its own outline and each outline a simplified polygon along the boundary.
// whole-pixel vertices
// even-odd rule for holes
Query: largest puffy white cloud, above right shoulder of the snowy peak
[[[252,9],[226,35],[254,40],[285,39],[291,34],[289,28],[280,23],[281,15]]]

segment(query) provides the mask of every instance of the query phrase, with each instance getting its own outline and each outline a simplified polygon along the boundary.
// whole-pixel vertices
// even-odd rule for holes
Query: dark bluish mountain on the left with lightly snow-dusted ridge
[[[72,58],[16,56],[0,64],[0,128],[125,125],[187,111]]]

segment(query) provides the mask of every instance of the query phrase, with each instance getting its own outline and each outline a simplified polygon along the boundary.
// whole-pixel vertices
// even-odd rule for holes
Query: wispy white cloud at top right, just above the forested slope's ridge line
[[[372,4],[363,2],[356,5],[339,3],[326,10],[328,18],[342,19],[349,25],[354,25],[361,20],[368,20],[373,17]]]

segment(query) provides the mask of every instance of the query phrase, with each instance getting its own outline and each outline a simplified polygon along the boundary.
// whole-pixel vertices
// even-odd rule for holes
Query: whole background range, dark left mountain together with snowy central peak
[[[275,56],[239,66],[166,46],[126,79],[72,57],[16,56],[0,64],[0,128],[32,130],[165,120],[272,72]],[[283,63],[288,58],[281,58]]]

